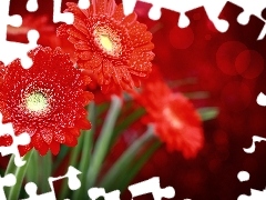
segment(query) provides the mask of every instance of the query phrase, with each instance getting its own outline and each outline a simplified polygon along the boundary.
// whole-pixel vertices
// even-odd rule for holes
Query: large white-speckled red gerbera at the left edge
[[[75,146],[80,129],[90,128],[84,109],[93,98],[84,91],[90,80],[59,48],[38,47],[29,56],[30,69],[23,69],[19,60],[4,69],[0,112],[3,122],[12,122],[16,134],[31,137],[30,144],[20,148],[21,156],[33,147],[42,156],[49,149],[58,154],[61,143]]]

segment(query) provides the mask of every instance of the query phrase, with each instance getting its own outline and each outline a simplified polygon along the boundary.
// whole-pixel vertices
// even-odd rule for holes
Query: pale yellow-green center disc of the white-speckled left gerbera
[[[42,92],[33,92],[25,99],[25,107],[32,112],[40,112],[48,107],[48,100]]]

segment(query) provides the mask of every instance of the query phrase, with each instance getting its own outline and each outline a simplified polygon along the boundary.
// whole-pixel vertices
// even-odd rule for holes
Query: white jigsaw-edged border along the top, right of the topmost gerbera
[[[137,0],[122,0],[124,4],[124,13],[127,16],[133,12]],[[266,19],[262,17],[262,11],[266,8],[266,1],[256,0],[256,2],[250,0],[139,0],[141,2],[152,4],[152,8],[149,11],[149,17],[152,20],[158,20],[161,18],[161,9],[171,10],[180,13],[180,19],[177,20],[177,26],[180,28],[185,28],[190,24],[190,19],[186,16],[186,12],[195,10],[203,7],[207,13],[208,19],[214,23],[215,28],[219,32],[225,32],[229,28],[229,22],[221,19],[219,14],[223,11],[227,2],[232,2],[235,6],[238,6],[244,9],[239,13],[237,21],[238,23],[245,26],[248,23],[250,16],[256,16],[262,21],[266,22]],[[257,3],[257,4],[256,4]],[[254,9],[254,11],[252,11]],[[247,12],[247,11],[248,12]],[[266,26],[262,29],[257,40],[263,40],[266,34]]]

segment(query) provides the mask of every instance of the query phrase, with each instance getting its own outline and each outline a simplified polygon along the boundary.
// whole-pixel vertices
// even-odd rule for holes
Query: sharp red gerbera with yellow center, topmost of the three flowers
[[[58,34],[74,44],[79,67],[93,74],[102,91],[139,87],[151,72],[152,33],[136,21],[135,13],[125,17],[123,6],[114,0],[90,3],[85,10],[66,3],[74,22],[61,26]]]

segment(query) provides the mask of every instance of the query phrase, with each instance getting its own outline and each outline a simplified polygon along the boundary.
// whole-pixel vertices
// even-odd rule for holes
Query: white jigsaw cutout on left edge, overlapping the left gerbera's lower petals
[[[0,153],[4,157],[14,154],[14,164],[21,167],[25,163],[20,157],[18,146],[25,146],[30,143],[30,136],[28,133],[14,134],[11,123],[2,123],[2,114],[0,113],[0,136],[10,134],[12,137],[12,144],[8,147],[0,147]]]

